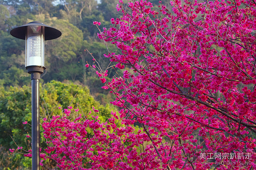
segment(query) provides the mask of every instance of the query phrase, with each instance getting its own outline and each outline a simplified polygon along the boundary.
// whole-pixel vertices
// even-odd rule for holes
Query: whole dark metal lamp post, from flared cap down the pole
[[[39,170],[39,80],[44,73],[44,41],[61,36],[61,32],[38,21],[11,30],[13,37],[26,40],[25,68],[32,83],[32,170]]]

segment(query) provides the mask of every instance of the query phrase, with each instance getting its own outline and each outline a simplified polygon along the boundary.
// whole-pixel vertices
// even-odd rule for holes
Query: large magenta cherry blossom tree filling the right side
[[[98,36],[117,45],[121,54],[105,57],[124,72],[104,88],[121,117],[143,127],[158,165],[242,169],[231,156],[215,160],[235,165],[209,162],[241,153],[255,169],[255,1],[159,1],[159,12],[149,1],[119,2],[123,16]]]

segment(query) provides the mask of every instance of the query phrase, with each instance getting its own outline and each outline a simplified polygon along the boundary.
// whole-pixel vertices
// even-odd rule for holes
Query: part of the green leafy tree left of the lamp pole
[[[0,143],[6,148],[16,147],[10,135],[17,143],[25,147],[25,138],[22,134],[31,129],[24,127],[22,122],[31,117],[30,91],[31,89],[27,86],[10,87],[7,91],[3,88],[0,90],[0,133],[5,136],[5,138],[0,138]]]

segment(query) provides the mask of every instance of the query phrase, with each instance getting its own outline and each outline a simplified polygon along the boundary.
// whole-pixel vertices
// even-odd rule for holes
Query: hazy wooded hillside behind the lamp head
[[[107,53],[106,47],[103,42],[98,42],[99,31],[93,22],[101,22],[101,30],[112,25],[110,18],[120,15],[116,10],[117,3],[117,0],[102,0],[101,4],[97,4],[95,0],[1,1],[0,71],[4,75],[0,77],[0,85],[22,87],[28,83],[27,76],[24,76],[25,41],[12,37],[9,32],[12,28],[31,21],[41,21],[62,32],[58,39],[45,42],[47,69],[42,79],[45,82],[53,79],[80,81],[86,85],[86,79],[95,75],[91,74],[92,70],[84,68],[86,61],[92,63],[92,57],[84,52],[85,49],[93,53],[103,69],[109,64],[109,60],[103,56]],[[108,44],[108,47],[111,51],[116,51],[114,45]],[[15,69],[23,69],[24,73],[15,73]],[[16,76],[14,81],[9,78],[12,75]]]

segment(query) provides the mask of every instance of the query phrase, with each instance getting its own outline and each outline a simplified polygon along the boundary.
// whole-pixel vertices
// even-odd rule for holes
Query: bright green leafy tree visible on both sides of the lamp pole
[[[62,109],[73,106],[82,109],[84,114],[95,107],[99,110],[98,114],[102,120],[110,117],[111,108],[100,105],[89,93],[87,87],[73,83],[65,84],[57,81],[46,83],[40,88],[42,103],[40,115],[48,117],[51,114],[61,114]],[[20,146],[27,146],[26,135],[31,132],[31,128],[22,124],[25,121],[31,124],[31,87],[10,87],[9,90],[1,88],[0,134],[5,138],[0,138],[0,143],[4,147],[16,147],[10,135]]]

